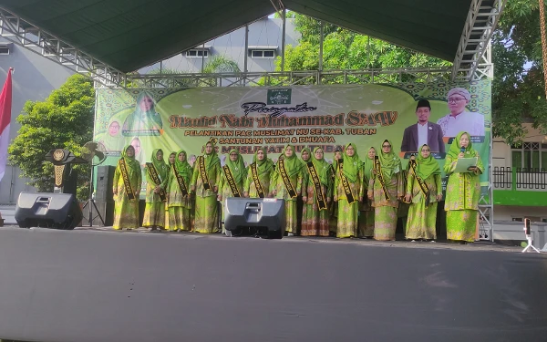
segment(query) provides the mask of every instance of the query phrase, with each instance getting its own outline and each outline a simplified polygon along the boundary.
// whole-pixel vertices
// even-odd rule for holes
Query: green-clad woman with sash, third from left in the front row
[[[167,186],[168,211],[166,229],[170,232],[191,231],[191,190],[190,181],[193,170],[186,158],[186,151],[179,150],[170,166]]]

